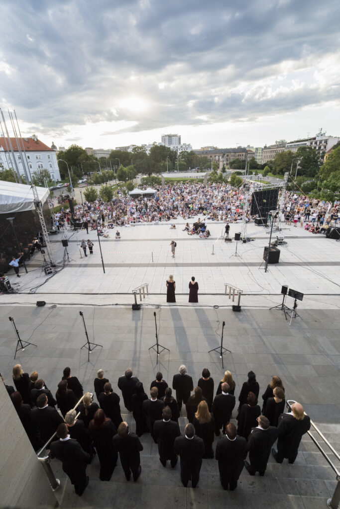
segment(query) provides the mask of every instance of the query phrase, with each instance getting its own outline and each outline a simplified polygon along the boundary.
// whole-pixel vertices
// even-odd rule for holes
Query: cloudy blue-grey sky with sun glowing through
[[[68,147],[340,135],[338,0],[0,0],[0,106]]]

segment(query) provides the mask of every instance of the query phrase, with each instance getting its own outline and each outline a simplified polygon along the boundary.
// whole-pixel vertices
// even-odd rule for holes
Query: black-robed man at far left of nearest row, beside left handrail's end
[[[81,497],[89,484],[86,467],[90,455],[85,453],[76,440],[70,438],[65,423],[58,426],[57,437],[59,440],[50,445],[50,457],[58,458],[62,462],[63,471],[74,485],[75,493]]]

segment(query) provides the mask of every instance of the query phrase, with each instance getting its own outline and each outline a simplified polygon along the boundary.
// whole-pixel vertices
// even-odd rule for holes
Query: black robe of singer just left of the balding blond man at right
[[[249,451],[250,466],[256,472],[266,471],[271,448],[277,435],[277,428],[273,426],[270,426],[268,430],[252,428],[248,437],[247,451]]]

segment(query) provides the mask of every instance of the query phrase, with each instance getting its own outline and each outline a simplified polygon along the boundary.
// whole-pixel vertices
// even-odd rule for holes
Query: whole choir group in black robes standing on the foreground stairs
[[[111,479],[119,455],[126,479],[132,474],[136,481],[141,473],[140,437],[144,433],[150,433],[158,444],[164,467],[169,460],[174,468],[179,456],[184,486],[191,479],[192,487],[196,487],[202,459],[215,456],[222,487],[233,490],[243,467],[250,475],[256,471],[265,474],[271,451],[278,463],[284,458],[294,463],[301,437],[310,427],[309,417],[299,403],[284,413],[285,393],[278,376],[266,387],[260,409],[259,384],[252,371],[239,393],[235,426],[230,420],[236,406],[236,383],[230,371],[218,382],[215,395],[215,383],[206,368],[196,387],[185,365],[173,376],[172,388],[159,372],[150,384],[148,398],[143,383],[127,369],[118,379],[118,388],[126,410],[133,414],[136,433],[123,421],[120,397],[103,370],[97,371],[94,380],[98,403],[92,401],[90,392],[83,393],[82,384],[71,375],[69,367],[64,369],[55,397],[36,371],[29,375],[16,364],[12,377],[14,387],[5,386],[32,446],[37,451],[45,445],[52,458],[62,461],[79,495],[89,482],[86,466],[96,454],[101,480]],[[181,435],[178,418],[182,405],[188,424]],[[214,435],[219,437],[221,430],[214,451]],[[272,448],[276,440],[277,451]]]

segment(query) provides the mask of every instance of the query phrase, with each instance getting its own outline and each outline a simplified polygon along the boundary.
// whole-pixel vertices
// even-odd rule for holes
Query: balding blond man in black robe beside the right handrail
[[[300,403],[292,405],[292,412],[281,414],[277,427],[278,440],[277,452],[272,449],[274,459],[282,463],[287,458],[289,463],[294,463],[298,455],[298,448],[302,436],[310,429],[310,418],[305,415]]]

